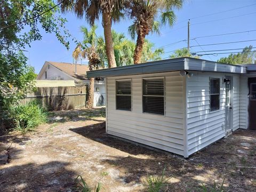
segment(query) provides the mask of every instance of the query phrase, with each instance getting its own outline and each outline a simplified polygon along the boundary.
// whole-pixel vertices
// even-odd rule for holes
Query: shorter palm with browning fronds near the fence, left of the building
[[[84,34],[84,39],[82,44],[77,45],[76,49],[73,52],[73,58],[77,60],[78,58],[84,58],[88,60],[89,70],[98,69],[101,62],[99,53],[97,51],[97,35],[95,30],[97,26],[93,25],[89,31],[86,27],[81,27],[81,31]],[[90,78],[89,84],[89,96],[87,107],[93,107],[94,99],[94,78]]]

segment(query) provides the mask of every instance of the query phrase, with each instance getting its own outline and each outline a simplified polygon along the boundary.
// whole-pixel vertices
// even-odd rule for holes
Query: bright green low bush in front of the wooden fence
[[[22,133],[34,131],[35,127],[47,121],[46,109],[36,101],[12,107],[10,114],[13,129]]]

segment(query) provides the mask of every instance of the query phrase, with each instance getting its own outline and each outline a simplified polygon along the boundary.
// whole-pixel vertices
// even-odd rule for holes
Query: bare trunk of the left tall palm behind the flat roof
[[[113,37],[111,33],[111,15],[110,13],[102,13],[103,29],[106,44],[106,53],[108,58],[108,67],[116,67],[115,54],[113,49]]]

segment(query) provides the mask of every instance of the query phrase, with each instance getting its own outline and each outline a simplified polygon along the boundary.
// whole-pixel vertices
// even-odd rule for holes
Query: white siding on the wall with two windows
[[[165,115],[142,113],[142,78],[165,78]],[[132,80],[132,111],[116,110],[116,79]],[[183,80],[179,72],[108,77],[107,133],[184,155]]]

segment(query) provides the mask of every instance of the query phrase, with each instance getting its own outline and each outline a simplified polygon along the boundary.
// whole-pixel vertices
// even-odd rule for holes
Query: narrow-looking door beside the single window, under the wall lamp
[[[231,101],[232,101],[232,77],[226,76],[224,79],[225,82],[225,90],[226,90],[226,101],[225,101],[225,129],[226,131],[230,130],[231,127],[231,117],[232,117],[232,106],[231,106]]]

